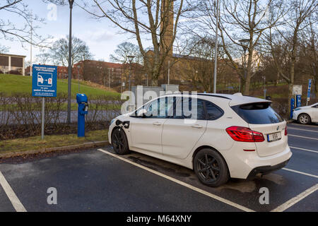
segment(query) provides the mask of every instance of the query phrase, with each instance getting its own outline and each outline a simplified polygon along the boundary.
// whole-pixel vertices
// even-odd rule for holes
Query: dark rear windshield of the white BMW
[[[232,109],[248,124],[273,124],[283,121],[269,102],[232,106]]]

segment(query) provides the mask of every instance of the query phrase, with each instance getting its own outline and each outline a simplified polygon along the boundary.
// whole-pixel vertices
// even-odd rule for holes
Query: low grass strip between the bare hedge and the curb
[[[78,138],[77,134],[68,134],[45,136],[43,141],[41,140],[41,136],[0,141],[0,153],[25,150],[41,150],[44,148],[56,148],[67,145],[83,144],[91,141],[107,141],[107,132],[107,129],[89,131],[86,133],[86,138]]]

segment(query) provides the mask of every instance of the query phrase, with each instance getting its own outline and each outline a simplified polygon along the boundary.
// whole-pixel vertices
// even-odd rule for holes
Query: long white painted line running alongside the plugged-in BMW
[[[139,167],[139,168],[141,168],[141,169],[145,169],[145,170],[147,170],[148,172],[152,172],[153,174],[156,174],[156,175],[158,175],[158,176],[160,176],[160,177],[163,177],[163,178],[165,178],[165,179],[169,179],[170,181],[175,182],[175,183],[177,183],[177,184],[180,184],[180,185],[182,185],[182,186],[185,186],[185,187],[187,187],[188,189],[192,189],[193,191],[197,191],[197,192],[199,192],[199,193],[201,193],[201,194],[204,194],[204,195],[206,195],[206,196],[208,196],[208,197],[210,197],[210,198],[216,199],[216,200],[218,200],[218,201],[220,201],[220,202],[226,203],[226,204],[228,204],[228,205],[230,205],[230,206],[233,206],[233,207],[235,207],[235,208],[238,208],[238,209],[240,209],[240,210],[243,210],[243,211],[246,211],[246,212],[255,212],[254,210],[251,210],[251,209],[249,209],[249,208],[246,208],[245,206],[241,206],[240,204],[234,203],[234,202],[229,201],[229,200],[227,200],[227,199],[225,199],[225,198],[221,198],[220,196],[216,196],[216,195],[214,195],[214,194],[211,194],[211,193],[209,193],[208,191],[204,191],[203,189],[199,189],[199,188],[197,188],[197,187],[195,187],[195,186],[192,186],[192,185],[190,185],[190,184],[187,184],[187,183],[184,183],[184,182],[182,182],[182,181],[179,181],[178,179],[175,179],[175,178],[173,178],[173,177],[169,177],[169,176],[167,176],[167,175],[165,175],[165,174],[162,174],[162,173],[160,173],[160,172],[157,172],[157,171],[155,171],[155,170],[153,170],[153,169],[150,169],[150,168],[148,168],[148,167],[144,167],[143,165],[139,165],[139,164],[137,164],[136,162],[132,162],[132,161],[130,161],[130,160],[127,160],[127,159],[124,158],[124,157],[120,157],[120,156],[118,156],[118,155],[115,155],[115,154],[113,154],[113,153],[110,153],[110,152],[108,152],[107,150],[103,150],[102,148],[100,148],[100,149],[98,149],[98,150],[101,151],[102,153],[105,153],[105,154],[110,155],[110,156],[112,156],[112,157],[116,157],[116,158],[119,159],[119,160],[122,160],[122,161],[124,161],[124,162],[128,162],[129,164],[134,165],[134,166],[136,166],[136,167]]]

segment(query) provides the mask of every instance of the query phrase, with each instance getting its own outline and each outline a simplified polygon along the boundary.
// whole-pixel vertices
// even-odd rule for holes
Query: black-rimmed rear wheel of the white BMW
[[[193,165],[196,177],[207,186],[220,186],[230,178],[228,165],[216,150],[209,148],[199,150],[194,157]]]

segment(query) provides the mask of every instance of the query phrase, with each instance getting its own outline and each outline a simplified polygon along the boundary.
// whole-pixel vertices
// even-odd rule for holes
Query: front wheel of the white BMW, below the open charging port
[[[124,129],[117,127],[112,131],[112,148],[119,155],[129,153],[129,145]]]

